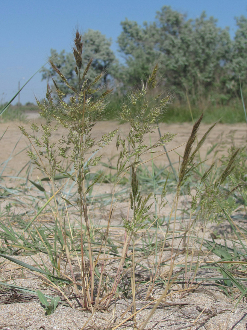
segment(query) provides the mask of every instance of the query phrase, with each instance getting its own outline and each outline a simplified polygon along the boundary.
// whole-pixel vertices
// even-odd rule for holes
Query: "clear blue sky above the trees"
[[[152,22],[165,5],[188,18],[205,10],[207,17],[218,19],[219,27],[229,26],[232,37],[234,17],[247,16],[246,0],[0,0],[0,104],[14,96],[18,82],[22,86],[47,61],[51,48],[71,50],[76,26],[81,31],[99,30],[117,51],[121,21]],[[38,73],[21,91],[20,102],[43,98],[45,86]]]

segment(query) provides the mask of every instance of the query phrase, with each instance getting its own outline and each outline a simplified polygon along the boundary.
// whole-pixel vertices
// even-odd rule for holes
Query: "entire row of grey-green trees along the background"
[[[205,12],[199,18],[187,19],[167,6],[157,12],[152,23],[140,26],[125,19],[118,37],[124,63],[110,49],[111,40],[99,31],[88,30],[83,35],[85,63],[93,58],[88,77],[104,71],[100,83],[115,87],[116,97],[121,98],[130,87],[140,86],[158,63],[160,88],[172,90],[180,103],[227,105],[240,98],[240,82],[242,88],[247,86],[247,19],[236,18],[233,40],[228,28],[216,24],[217,19],[207,18]],[[76,86],[73,54],[51,49],[51,57]],[[58,76],[52,68],[43,69],[42,79],[49,78],[56,80]],[[66,86],[57,83],[67,94]]]

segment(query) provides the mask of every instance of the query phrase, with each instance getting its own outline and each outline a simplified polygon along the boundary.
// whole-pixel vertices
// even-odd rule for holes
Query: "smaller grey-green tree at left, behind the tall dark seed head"
[[[89,29],[83,34],[82,70],[85,69],[84,64],[87,64],[91,59],[92,62],[87,77],[93,81],[97,75],[104,72],[103,78],[99,84],[107,84],[116,70],[118,62],[110,47],[111,40],[107,39],[105,35],[102,35],[100,31]],[[67,53],[65,50],[58,53],[55,49],[51,49],[51,56],[49,58],[52,59],[63,75],[67,77],[69,84],[72,86],[78,84],[78,77],[75,72],[76,63],[72,53]],[[61,78],[51,67],[42,69],[42,72],[42,80],[55,78],[61,91],[66,95],[69,93],[69,88],[62,82]]]

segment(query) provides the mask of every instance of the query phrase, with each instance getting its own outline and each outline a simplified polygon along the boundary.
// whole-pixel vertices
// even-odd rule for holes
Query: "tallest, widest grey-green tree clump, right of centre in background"
[[[195,19],[164,6],[155,22],[143,26],[127,19],[118,38],[126,66],[126,83],[140,83],[158,60],[169,88],[198,97],[212,88],[222,88],[232,42],[227,29],[216,26],[205,12]]]

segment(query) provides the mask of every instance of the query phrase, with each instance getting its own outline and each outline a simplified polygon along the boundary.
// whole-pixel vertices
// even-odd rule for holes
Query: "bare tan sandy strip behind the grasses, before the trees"
[[[29,115],[30,122],[38,122],[39,118],[33,117]],[[28,128],[29,123],[21,123],[25,128]],[[22,167],[24,167],[29,158],[25,152],[20,152],[22,149],[29,148],[30,143],[27,138],[23,137],[18,129],[18,123],[16,122],[9,122],[9,123],[0,123],[0,134],[2,135],[5,132],[2,140],[1,140],[1,148],[0,148],[0,163],[6,161],[8,159],[7,168],[5,168],[4,174],[5,175],[14,175],[16,171],[19,171]],[[96,138],[100,138],[106,132],[109,132],[113,129],[119,127],[120,133],[127,134],[128,132],[128,125],[122,124],[120,125],[118,122],[112,121],[101,121],[97,123],[95,129],[93,130],[93,136]],[[210,125],[201,124],[199,133],[198,133],[198,141],[202,138],[202,136],[206,133]],[[177,134],[177,136],[172,140],[172,142],[166,145],[167,151],[170,160],[173,164],[177,164],[179,162],[178,154],[182,155],[185,143],[191,134],[192,124],[191,123],[182,123],[182,124],[160,124],[160,131],[161,134],[166,132],[171,132]],[[59,130],[55,133],[55,137],[61,137],[63,131]],[[0,136],[1,136],[0,135]],[[206,155],[207,151],[214,144],[225,143],[222,149],[222,152],[219,153],[226,153],[226,149],[231,144],[231,137],[234,135],[234,144],[238,147],[243,145],[246,142],[247,136],[247,128],[246,124],[238,123],[234,125],[226,125],[226,124],[217,124],[213,130],[210,132],[208,138],[206,139],[204,145],[200,149],[201,159],[208,159],[208,162],[214,158],[214,152],[211,152],[209,155]],[[158,133],[151,135],[151,141],[155,142],[158,139]],[[103,149],[103,158],[102,161],[108,161],[113,156],[117,154],[116,152],[116,140],[114,140],[109,146]],[[149,136],[146,139],[146,142],[149,143]],[[181,146],[181,147],[179,147]],[[163,149],[160,149],[161,152],[164,152]],[[20,153],[19,153],[20,152]],[[149,159],[150,155],[146,156],[146,159]],[[143,158],[145,160],[145,157]],[[169,161],[166,155],[162,155],[155,160],[157,165],[168,166]],[[175,165],[176,166],[176,165]],[[33,178],[37,176],[39,172],[34,172]]]

